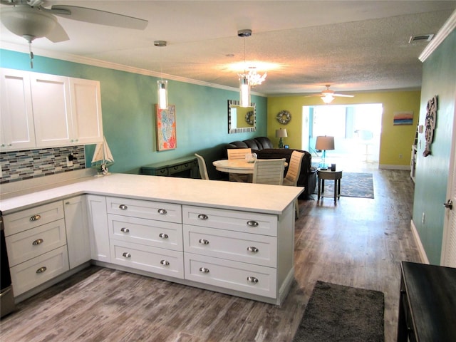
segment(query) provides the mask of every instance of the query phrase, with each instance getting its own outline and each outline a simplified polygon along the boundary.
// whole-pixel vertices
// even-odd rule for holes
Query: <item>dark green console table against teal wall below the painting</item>
[[[142,175],[199,178],[197,157],[182,157],[141,167]]]

